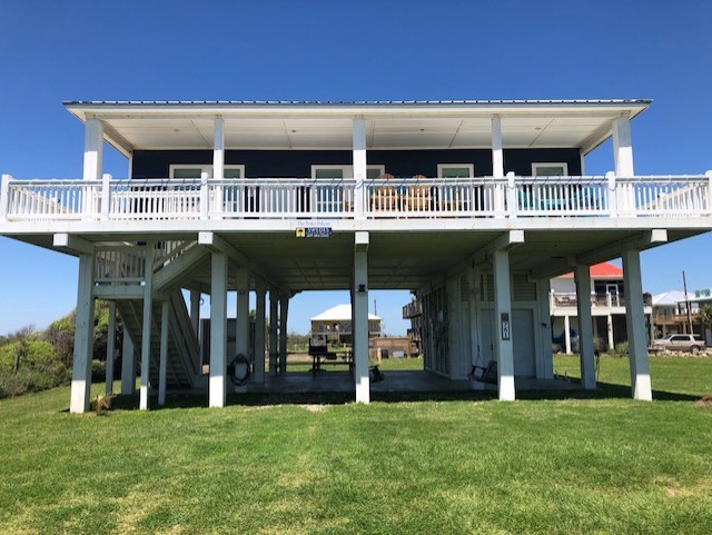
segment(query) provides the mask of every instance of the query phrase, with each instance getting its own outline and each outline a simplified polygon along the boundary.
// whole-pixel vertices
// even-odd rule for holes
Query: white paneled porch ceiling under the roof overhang
[[[622,112],[649,101],[514,101],[379,105],[185,105],[67,102],[80,120],[96,116],[105,138],[123,153],[136,149],[212,149],[214,120],[225,119],[228,149],[350,150],[352,121],[366,119],[369,149],[490,148],[491,119],[502,118],[505,148],[592,150]]]

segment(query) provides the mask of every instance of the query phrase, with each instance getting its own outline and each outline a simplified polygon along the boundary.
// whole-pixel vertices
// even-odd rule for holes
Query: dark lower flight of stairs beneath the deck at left
[[[129,333],[136,351],[140,355],[142,345],[144,300],[118,299],[117,308]],[[160,359],[161,306],[154,303],[151,318],[150,376],[151,385],[158,386]],[[140,361],[140,358],[138,359]],[[192,330],[190,317],[182,293],[176,289],[168,299],[168,361],[166,387],[187,389],[202,386],[205,379],[200,370],[200,349]]]

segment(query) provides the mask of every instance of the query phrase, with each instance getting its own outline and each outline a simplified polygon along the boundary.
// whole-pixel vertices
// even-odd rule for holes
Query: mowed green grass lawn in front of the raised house
[[[624,364],[602,359],[611,393]],[[684,400],[174,396],[98,417],[67,414],[67,388],[6,399],[0,533],[710,533],[712,408],[692,399],[712,359],[651,368]]]

